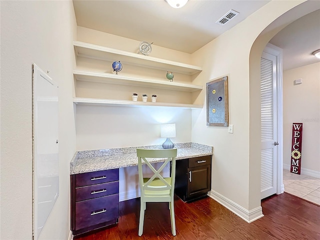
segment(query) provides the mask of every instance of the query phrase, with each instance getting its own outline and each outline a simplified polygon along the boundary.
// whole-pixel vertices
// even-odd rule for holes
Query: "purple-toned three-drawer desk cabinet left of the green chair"
[[[115,224],[119,218],[119,169],[70,175],[74,236]]]

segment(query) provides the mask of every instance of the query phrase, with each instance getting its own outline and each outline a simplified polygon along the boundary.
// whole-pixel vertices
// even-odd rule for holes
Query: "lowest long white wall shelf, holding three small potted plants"
[[[165,107],[181,107],[181,108],[202,108],[202,105],[183,104],[183,103],[167,103],[167,102],[150,102],[150,101],[129,101],[129,100],[112,100],[99,98],[73,97],[73,102],[84,105],[108,105],[108,106],[165,106]]]

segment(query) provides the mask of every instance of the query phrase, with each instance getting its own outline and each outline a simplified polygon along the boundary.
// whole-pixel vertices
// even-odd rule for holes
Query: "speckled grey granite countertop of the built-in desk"
[[[213,147],[194,142],[175,143],[176,160],[213,154]],[[107,148],[97,150],[76,151],[70,161],[70,174],[107,170],[138,164],[136,148],[162,149],[161,145],[133,146],[123,148]],[[155,159],[160,162],[164,159]]]

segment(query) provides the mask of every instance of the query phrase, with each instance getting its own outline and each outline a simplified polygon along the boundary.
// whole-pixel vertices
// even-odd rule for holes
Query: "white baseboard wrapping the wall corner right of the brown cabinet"
[[[247,210],[216,191],[211,190],[208,195],[248,223],[263,216],[261,206]]]

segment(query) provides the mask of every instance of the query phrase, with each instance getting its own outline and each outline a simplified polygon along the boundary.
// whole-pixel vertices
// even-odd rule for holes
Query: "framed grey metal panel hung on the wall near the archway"
[[[206,125],[228,126],[228,77],[206,83]]]

